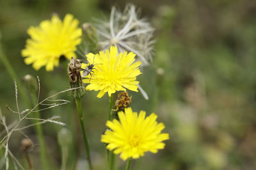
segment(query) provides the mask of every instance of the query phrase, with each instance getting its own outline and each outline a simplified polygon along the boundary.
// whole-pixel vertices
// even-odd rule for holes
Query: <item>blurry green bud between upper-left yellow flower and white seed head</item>
[[[88,43],[88,47],[90,48],[90,50],[92,50],[92,52],[94,52],[97,48],[97,43],[98,43],[98,38],[97,38],[97,33],[95,28],[93,27],[93,25],[89,23],[84,23],[82,25],[82,29],[84,32],[83,36]]]

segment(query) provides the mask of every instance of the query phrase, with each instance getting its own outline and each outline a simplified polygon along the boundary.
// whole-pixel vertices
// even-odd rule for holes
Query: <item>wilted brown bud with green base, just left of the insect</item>
[[[68,78],[70,83],[70,88],[83,87],[83,82],[81,78],[81,60],[72,57],[68,64]],[[72,90],[72,96],[76,98],[83,97],[85,93],[84,88],[79,88]]]

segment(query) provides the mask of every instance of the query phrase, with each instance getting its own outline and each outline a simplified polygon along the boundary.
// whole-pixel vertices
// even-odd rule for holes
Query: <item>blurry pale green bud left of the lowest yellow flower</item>
[[[67,128],[62,128],[58,132],[58,143],[61,147],[68,147],[72,142],[72,134]]]

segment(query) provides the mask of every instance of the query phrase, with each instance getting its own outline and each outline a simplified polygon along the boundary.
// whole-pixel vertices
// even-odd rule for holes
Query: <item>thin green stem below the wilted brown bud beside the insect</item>
[[[77,106],[77,113],[78,113],[78,116],[79,116],[81,129],[82,129],[82,132],[83,132],[84,145],[85,145],[85,148],[86,148],[86,155],[87,155],[89,167],[90,167],[90,169],[92,169],[92,161],[91,161],[91,157],[90,157],[90,148],[89,148],[89,143],[88,143],[88,139],[87,139],[87,136],[86,136],[84,121],[83,121],[84,119],[83,119],[83,112],[82,112],[82,106],[81,106],[81,98],[76,98],[76,106]]]

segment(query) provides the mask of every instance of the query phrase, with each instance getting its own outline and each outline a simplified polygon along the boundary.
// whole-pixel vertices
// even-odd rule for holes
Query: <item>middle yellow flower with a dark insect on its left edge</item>
[[[106,92],[108,95],[116,91],[129,89],[138,92],[138,83],[136,76],[141,74],[141,62],[134,62],[135,54],[130,52],[118,53],[116,46],[111,46],[106,52],[99,52],[94,55],[89,53],[86,55],[90,64],[95,64],[91,74],[85,77],[84,83],[90,83],[86,90],[100,90],[97,97],[102,97]],[[88,64],[82,64],[82,68],[86,69]],[[94,73],[93,73],[94,72]],[[83,71],[81,71],[83,75]]]

